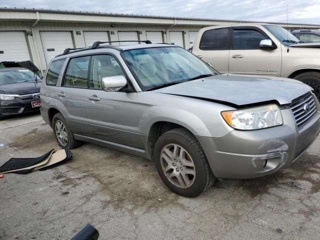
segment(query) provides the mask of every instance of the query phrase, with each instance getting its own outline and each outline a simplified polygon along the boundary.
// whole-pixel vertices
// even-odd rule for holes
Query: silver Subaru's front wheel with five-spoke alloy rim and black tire
[[[163,133],[153,154],[162,181],[179,195],[198,196],[215,180],[200,143],[184,128]]]

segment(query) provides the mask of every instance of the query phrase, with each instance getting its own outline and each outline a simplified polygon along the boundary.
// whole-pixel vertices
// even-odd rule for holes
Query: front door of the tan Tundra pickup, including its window
[[[232,49],[229,53],[229,73],[279,76],[281,47],[261,49],[259,43],[270,39],[262,29],[251,26],[231,28]]]

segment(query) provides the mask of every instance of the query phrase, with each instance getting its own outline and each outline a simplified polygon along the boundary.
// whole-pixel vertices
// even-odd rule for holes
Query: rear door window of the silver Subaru
[[[63,86],[87,87],[90,56],[71,58],[63,80]]]

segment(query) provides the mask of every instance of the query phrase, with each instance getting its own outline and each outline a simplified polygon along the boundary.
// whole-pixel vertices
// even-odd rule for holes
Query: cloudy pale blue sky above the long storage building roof
[[[261,22],[288,16],[291,23],[320,24],[320,0],[0,0],[0,6]]]

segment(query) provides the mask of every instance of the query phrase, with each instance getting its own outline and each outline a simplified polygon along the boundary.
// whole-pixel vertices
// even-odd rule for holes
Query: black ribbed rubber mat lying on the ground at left
[[[21,169],[29,166],[33,166],[40,161],[43,161],[46,157],[48,157],[51,152],[54,149],[48,151],[47,153],[43,154],[42,156],[39,157],[34,157],[34,158],[10,158],[7,162],[5,162],[2,166],[0,166],[0,172],[6,172],[6,171],[11,171],[11,170],[16,170],[16,169]],[[32,168],[30,169],[25,169],[22,170],[21,172],[15,172],[15,173],[27,173],[29,171],[32,171]]]

